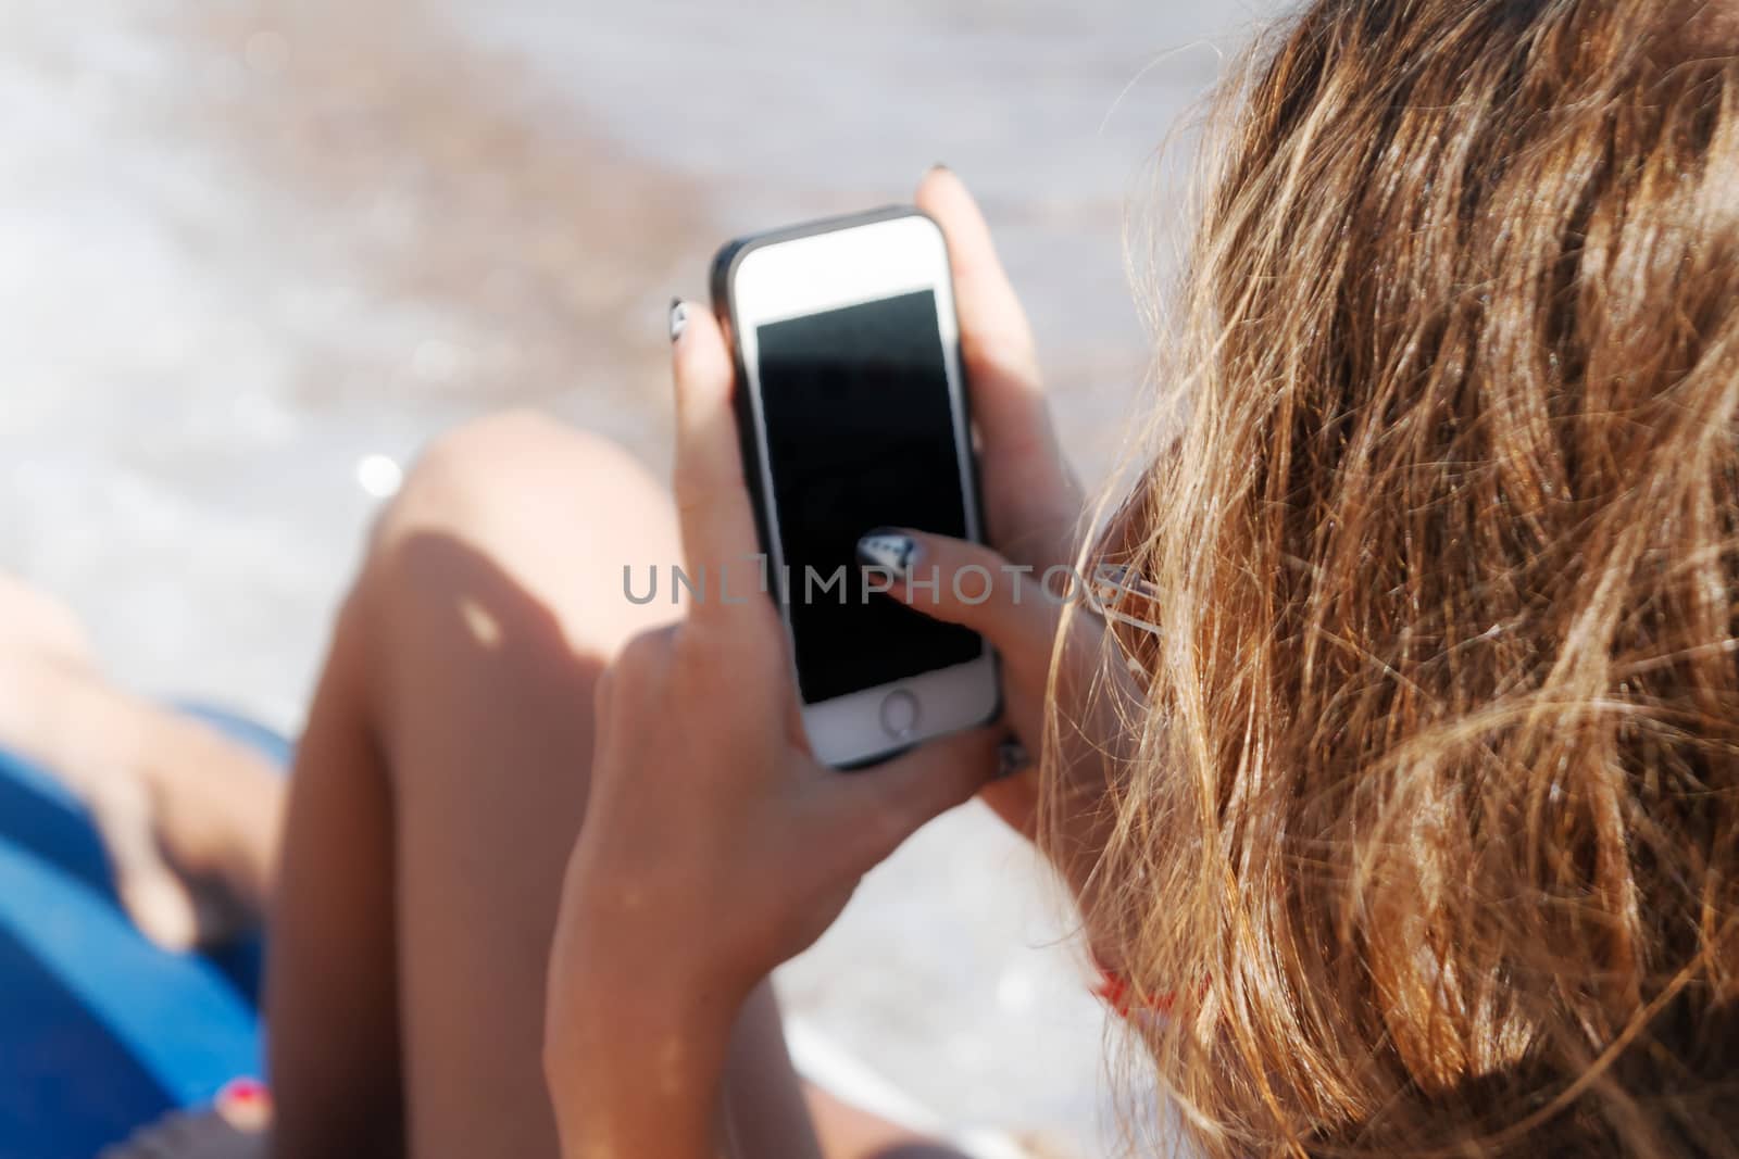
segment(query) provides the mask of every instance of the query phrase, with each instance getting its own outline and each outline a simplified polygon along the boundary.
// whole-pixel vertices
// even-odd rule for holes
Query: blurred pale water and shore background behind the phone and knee
[[[1148,356],[1125,198],[1266,7],[7,0],[0,566],[120,679],[294,726],[381,455],[532,403],[663,464],[670,294],[936,160],[1094,474]],[[1103,1022],[1042,884],[962,810],[786,1001],[960,1123],[1106,1152]]]

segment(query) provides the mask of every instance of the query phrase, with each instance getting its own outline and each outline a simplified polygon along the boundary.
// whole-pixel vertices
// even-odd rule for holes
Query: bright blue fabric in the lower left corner
[[[257,725],[188,711],[289,756]],[[0,751],[0,1159],[89,1159],[261,1074],[259,959],[257,938],[216,956],[144,940],[78,801]]]

